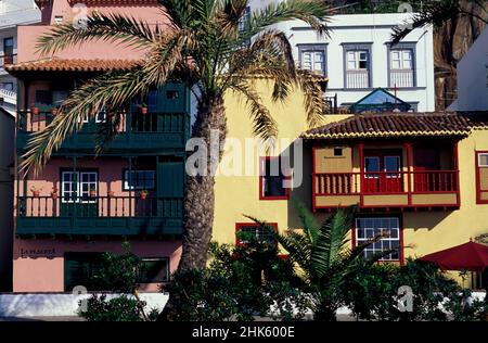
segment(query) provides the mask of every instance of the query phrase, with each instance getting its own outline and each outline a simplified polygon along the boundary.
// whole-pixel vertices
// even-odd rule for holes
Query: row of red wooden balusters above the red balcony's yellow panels
[[[452,193],[457,170],[314,174],[316,195]]]

